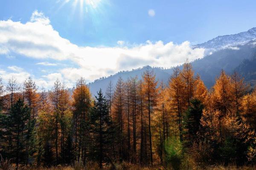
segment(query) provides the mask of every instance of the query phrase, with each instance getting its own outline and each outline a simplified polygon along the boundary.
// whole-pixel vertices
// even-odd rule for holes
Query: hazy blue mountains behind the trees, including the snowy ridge
[[[256,61],[256,28],[251,28],[246,32],[233,35],[218,36],[207,42],[194,45],[193,48],[205,48],[209,53],[204,58],[196,59],[192,62],[195,74],[199,74],[208,88],[211,88],[215,78],[219,75],[221,69],[232,74],[235,70],[245,77],[250,85],[255,85],[256,68],[253,63]],[[182,65],[179,66],[182,68]],[[99,88],[106,90],[108,83],[113,85],[119,77],[127,80],[130,77],[137,76],[138,79],[146,69],[153,69],[156,78],[167,84],[172,74],[172,68],[151,68],[145,66],[132,71],[120,71],[119,73],[107,78],[97,79],[89,83],[92,94],[96,94]]]

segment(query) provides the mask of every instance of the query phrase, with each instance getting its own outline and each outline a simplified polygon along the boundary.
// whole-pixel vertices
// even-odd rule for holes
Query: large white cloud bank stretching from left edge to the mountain
[[[120,46],[117,47],[78,46],[62,38],[50,25],[49,18],[38,11],[24,24],[2,20],[0,30],[0,52],[6,55],[17,53],[35,59],[70,60],[78,65],[78,68],[67,66],[58,73],[42,77],[47,80],[58,77],[75,82],[82,76],[87,81],[93,81],[120,70],[131,70],[144,65],[170,68],[183,63],[186,58],[192,61],[204,56],[204,48],[192,49],[187,41],[165,44],[162,41],[148,40],[129,47],[123,41],[118,41]]]

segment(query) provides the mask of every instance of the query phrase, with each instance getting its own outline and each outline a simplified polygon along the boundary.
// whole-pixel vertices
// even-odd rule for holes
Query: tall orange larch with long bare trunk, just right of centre
[[[147,103],[148,112],[148,133],[149,133],[149,146],[150,146],[150,161],[153,165],[153,153],[152,153],[152,139],[151,139],[151,114],[154,113],[154,109],[157,106],[157,81],[155,80],[155,75],[153,71],[146,70],[143,74],[143,96],[144,102]]]

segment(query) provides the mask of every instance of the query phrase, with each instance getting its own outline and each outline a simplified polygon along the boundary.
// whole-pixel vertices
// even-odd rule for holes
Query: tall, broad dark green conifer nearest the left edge
[[[23,101],[19,99],[15,105],[11,108],[8,116],[7,135],[11,137],[12,148],[10,149],[10,155],[16,164],[16,169],[20,163],[26,163],[27,155],[27,138],[30,136],[31,126],[30,111],[27,105],[24,105]]]

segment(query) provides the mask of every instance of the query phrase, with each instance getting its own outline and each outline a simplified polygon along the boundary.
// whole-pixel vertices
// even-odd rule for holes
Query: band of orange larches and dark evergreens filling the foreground
[[[238,73],[207,89],[186,62],[168,85],[148,69],[106,86],[1,80],[0,169],[255,168],[256,89]]]

